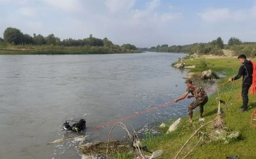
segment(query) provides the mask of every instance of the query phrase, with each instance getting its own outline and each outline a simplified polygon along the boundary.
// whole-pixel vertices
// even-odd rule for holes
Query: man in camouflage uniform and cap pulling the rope
[[[192,116],[193,116],[193,109],[195,109],[197,106],[200,108],[200,118],[199,121],[203,121],[203,106],[208,102],[208,97],[206,92],[203,90],[202,87],[198,87],[194,84],[192,84],[191,79],[186,80],[186,86],[188,87],[186,89],[186,92],[179,97],[178,99],[174,99],[174,102],[178,102],[179,100],[185,99],[188,93],[191,93],[192,95],[188,96],[188,98],[195,97],[196,100],[194,100],[189,106],[188,106],[188,121],[192,122]]]

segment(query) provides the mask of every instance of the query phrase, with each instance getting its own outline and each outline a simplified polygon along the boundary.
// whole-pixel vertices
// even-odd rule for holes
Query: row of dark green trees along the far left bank
[[[132,44],[124,44],[124,45],[114,45],[111,40],[107,38],[100,39],[90,37],[75,40],[73,38],[67,38],[64,40],[60,40],[60,38],[55,37],[52,33],[48,36],[43,36],[41,34],[36,35],[33,33],[33,37],[28,34],[23,34],[17,28],[6,28],[4,31],[4,39],[0,38],[1,44],[12,44],[12,45],[53,45],[53,46],[66,46],[66,47],[107,47],[107,48],[119,48],[120,50],[137,50],[135,45]]]

